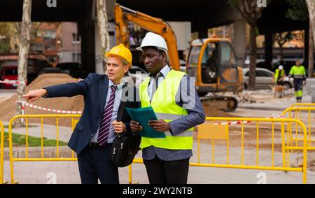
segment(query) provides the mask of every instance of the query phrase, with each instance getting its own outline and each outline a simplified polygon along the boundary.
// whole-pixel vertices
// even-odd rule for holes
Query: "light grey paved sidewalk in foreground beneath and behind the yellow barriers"
[[[278,140],[277,140],[278,141]],[[197,143],[194,142],[193,157],[190,162],[197,162]],[[66,149],[66,147],[64,147]],[[201,162],[210,164],[212,162],[211,146],[209,141],[203,141],[201,144]],[[61,153],[60,157],[68,157],[68,153]],[[226,146],[216,145],[216,164],[226,163]],[[290,167],[295,167],[296,158],[300,157],[299,153],[290,153]],[[24,155],[20,156],[24,157]],[[34,156],[29,156],[34,157]],[[52,156],[45,156],[52,157]],[[55,156],[53,156],[55,157]],[[252,149],[244,150],[244,164],[255,164],[256,152]],[[141,151],[136,158],[141,158]],[[230,146],[229,164],[240,164],[241,152],[239,146]],[[269,150],[261,149],[259,152],[260,166],[270,166],[272,159]],[[281,167],[282,154],[274,153],[274,165]],[[14,162],[15,181],[19,183],[48,183],[50,181],[50,172],[54,173],[57,183],[80,183],[77,162]],[[211,183],[252,183],[255,184],[260,180],[258,173],[264,173],[267,177],[267,183],[302,183],[302,173],[284,172],[284,171],[263,171],[251,169],[225,169],[210,167],[190,167],[188,183],[211,184]],[[49,174],[49,175],[48,175]],[[54,175],[52,174],[52,175]],[[148,183],[146,169],[144,164],[132,165],[132,177],[134,183]],[[119,169],[120,183],[128,183],[128,167]],[[49,176],[49,177],[48,177]],[[4,164],[4,179],[10,182],[9,162]],[[308,171],[307,183],[315,183],[315,172]]]

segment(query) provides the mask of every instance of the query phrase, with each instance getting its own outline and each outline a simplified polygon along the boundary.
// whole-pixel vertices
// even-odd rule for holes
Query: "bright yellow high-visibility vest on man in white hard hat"
[[[150,78],[146,78],[139,87],[141,107],[152,106],[158,119],[164,119],[166,122],[183,118],[188,115],[185,108],[176,104],[175,96],[179,90],[181,78],[185,73],[171,70],[159,84],[158,89],[153,95],[151,104],[148,96],[148,83]],[[141,149],[148,146],[166,148],[171,150],[189,150],[193,148],[193,128],[172,136],[171,132],[165,132],[166,138],[148,138],[142,137]]]

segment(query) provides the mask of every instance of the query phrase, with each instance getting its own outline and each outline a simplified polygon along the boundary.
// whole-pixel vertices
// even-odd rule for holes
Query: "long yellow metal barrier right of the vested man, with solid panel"
[[[190,159],[190,166],[296,171],[302,173],[302,183],[307,183],[307,129],[300,120],[285,118],[206,118],[206,120],[207,122],[198,127],[197,162],[191,162],[193,158]],[[234,121],[238,122],[238,125],[230,125]],[[289,145],[289,134],[285,131],[291,123],[296,123],[302,129],[304,143],[302,153],[298,150],[290,153],[290,150],[295,148]],[[210,140],[212,144],[212,162],[208,163],[200,162],[200,155],[206,153],[204,150],[200,152],[201,141],[205,139]],[[218,142],[216,145],[218,150],[215,150],[215,142]],[[251,147],[253,149],[248,150]],[[221,159],[215,160],[216,152],[220,152],[216,156]],[[300,164],[302,167],[290,167],[290,154],[302,155],[303,161]],[[261,157],[264,160],[271,159],[268,159],[269,162],[260,162],[260,155],[265,155]],[[134,159],[134,163],[143,163],[143,160]],[[129,174],[129,183],[132,183],[132,165],[129,167]]]

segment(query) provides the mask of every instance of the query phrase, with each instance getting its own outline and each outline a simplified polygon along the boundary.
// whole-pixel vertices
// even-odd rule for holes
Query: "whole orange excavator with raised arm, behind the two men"
[[[137,25],[146,31],[160,34],[167,43],[169,66],[180,70],[176,35],[164,20],[115,4],[116,42],[130,48],[129,24]],[[225,38],[197,39],[190,44],[186,60],[186,73],[195,77],[196,89],[200,96],[211,92],[211,96],[201,97],[209,106],[235,111],[237,99],[224,96],[224,92],[241,92],[244,89],[241,68],[235,61],[232,43]]]

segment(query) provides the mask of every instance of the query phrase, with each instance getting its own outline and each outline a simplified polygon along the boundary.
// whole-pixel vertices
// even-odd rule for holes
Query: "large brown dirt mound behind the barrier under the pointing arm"
[[[37,90],[43,87],[48,87],[51,85],[58,85],[62,83],[73,83],[75,80],[71,78],[71,76],[67,74],[57,74],[57,73],[47,73],[38,76],[31,84],[29,84],[26,88],[26,92],[29,90]],[[2,101],[0,103],[1,111],[0,111],[0,120],[10,121],[11,118],[15,116],[15,101],[18,99],[18,94],[13,95],[10,99],[6,101]],[[45,108],[53,108],[57,110],[66,110],[66,111],[83,111],[84,103],[83,96],[76,97],[61,97],[61,98],[52,98],[52,99],[39,99],[37,101],[32,102],[36,106],[41,106]],[[59,114],[52,113],[49,111],[42,111],[34,108],[30,108],[28,106],[25,107],[25,114]],[[29,119],[29,122],[40,123],[41,120],[34,118]],[[55,118],[45,118],[43,119],[44,124],[55,125]],[[59,125],[62,126],[70,126],[71,119],[69,118],[60,118]]]

